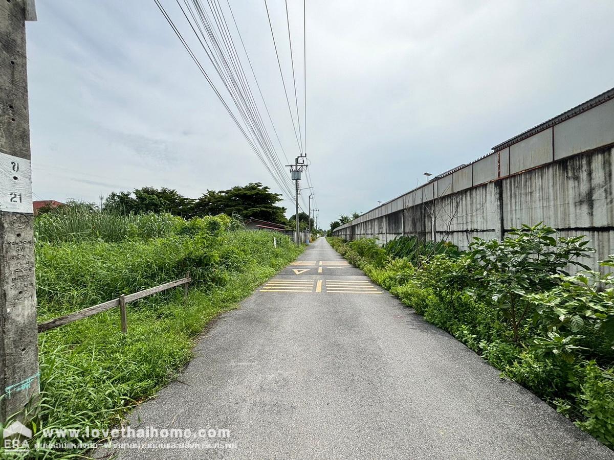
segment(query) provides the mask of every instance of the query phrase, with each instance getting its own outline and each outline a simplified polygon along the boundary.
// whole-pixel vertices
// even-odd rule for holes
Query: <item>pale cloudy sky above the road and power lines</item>
[[[161,2],[214,75],[176,2]],[[286,164],[298,144],[265,4],[230,5]],[[611,0],[306,0],[305,98],[303,2],[288,5],[321,228],[614,86]],[[296,117],[284,2],[268,7]],[[36,9],[26,26],[35,199],[99,202],[142,186],[198,197],[250,182],[281,191],[153,0],[36,0]],[[281,202],[288,215],[291,199]]]

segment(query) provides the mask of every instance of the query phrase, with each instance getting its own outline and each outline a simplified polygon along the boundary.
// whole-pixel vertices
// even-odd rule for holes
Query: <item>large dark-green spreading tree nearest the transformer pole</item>
[[[239,215],[242,218],[255,218],[279,224],[286,224],[286,208],[276,206],[281,201],[281,195],[272,193],[270,188],[260,182],[235,186],[228,190],[208,190],[193,205],[193,214],[229,216]]]

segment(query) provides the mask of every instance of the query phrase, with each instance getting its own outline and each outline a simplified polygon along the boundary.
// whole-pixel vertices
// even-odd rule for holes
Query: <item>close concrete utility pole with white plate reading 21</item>
[[[0,8],[0,423],[39,392],[25,21],[34,0]]]

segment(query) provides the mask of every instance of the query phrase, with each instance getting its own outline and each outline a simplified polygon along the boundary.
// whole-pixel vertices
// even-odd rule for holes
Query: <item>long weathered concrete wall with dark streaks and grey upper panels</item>
[[[584,234],[614,253],[614,89],[493,148],[472,164],[436,176],[337,228],[346,239],[400,235],[448,240],[502,239],[540,221],[560,236]]]

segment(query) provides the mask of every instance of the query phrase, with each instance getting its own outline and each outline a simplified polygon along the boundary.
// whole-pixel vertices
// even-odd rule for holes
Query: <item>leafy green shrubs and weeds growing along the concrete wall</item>
[[[373,239],[328,242],[403,304],[614,448],[614,278],[583,266],[593,251],[584,237],[557,237],[538,224],[503,241],[476,239],[467,252],[415,237],[384,247]]]

